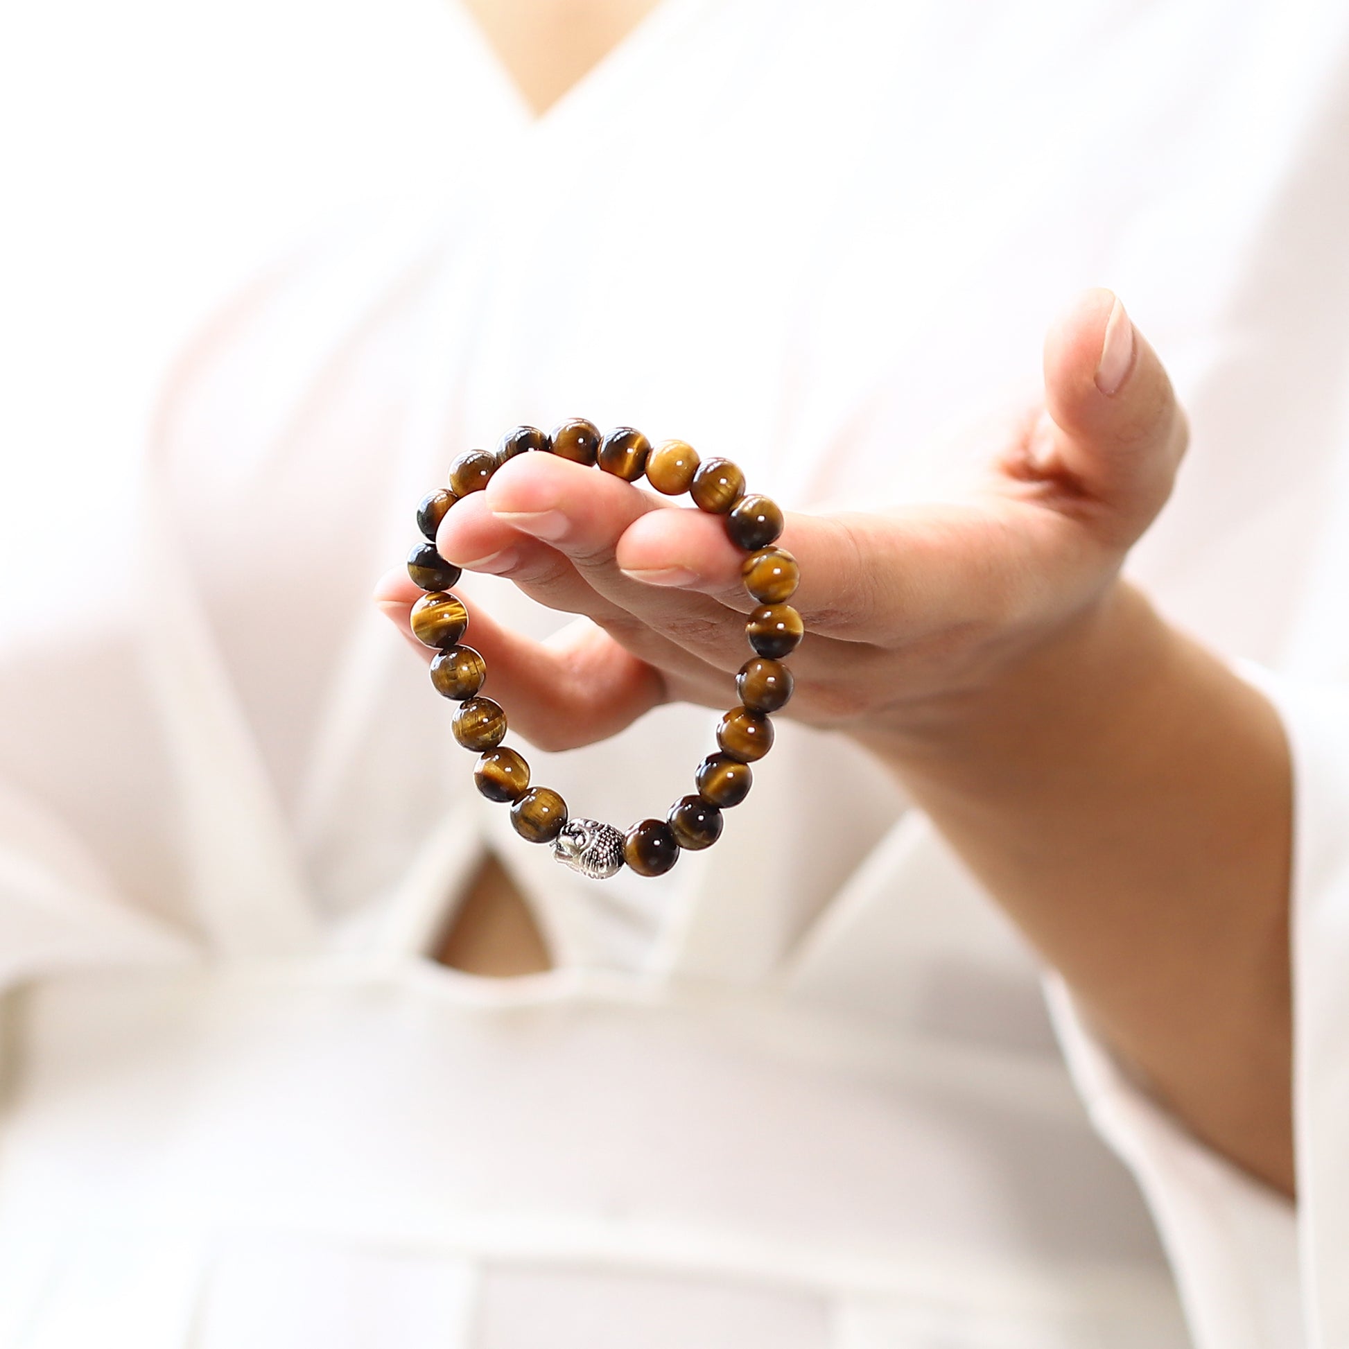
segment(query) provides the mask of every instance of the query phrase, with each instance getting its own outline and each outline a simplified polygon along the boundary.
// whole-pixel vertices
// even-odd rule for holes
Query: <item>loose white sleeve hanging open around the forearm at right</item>
[[[1198,1349],[1333,1349],[1349,1344],[1349,688],[1242,673],[1294,757],[1296,1207],[1130,1082],[1058,979],[1050,1002],[1093,1121],[1152,1206]]]

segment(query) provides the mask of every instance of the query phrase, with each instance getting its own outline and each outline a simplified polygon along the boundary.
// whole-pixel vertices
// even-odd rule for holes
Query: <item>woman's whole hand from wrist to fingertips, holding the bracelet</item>
[[[807,637],[780,715],[867,742],[940,731],[982,715],[1103,610],[1171,491],[1184,418],[1109,291],[1055,324],[1044,376],[1043,402],[990,445],[963,498],[786,517],[778,542],[801,564],[792,603]],[[670,505],[529,453],[441,523],[448,560],[588,619],[540,643],[469,606],[488,692],[540,747],[603,739],[661,701],[734,706],[733,674],[751,654],[743,554],[719,518]],[[376,599],[406,631],[418,594],[391,573]]]

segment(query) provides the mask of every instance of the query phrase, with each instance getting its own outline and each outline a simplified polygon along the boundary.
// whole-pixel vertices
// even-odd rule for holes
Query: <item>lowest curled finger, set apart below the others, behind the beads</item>
[[[410,583],[409,583],[410,585]],[[407,614],[420,596],[394,573],[384,577],[375,600],[428,664],[436,652],[410,633]],[[661,674],[626,652],[590,622],[571,623],[546,642],[537,642],[498,623],[484,608],[464,600],[464,642],[487,662],[483,696],[507,708],[510,724],[542,750],[575,749],[616,735],[669,696]]]

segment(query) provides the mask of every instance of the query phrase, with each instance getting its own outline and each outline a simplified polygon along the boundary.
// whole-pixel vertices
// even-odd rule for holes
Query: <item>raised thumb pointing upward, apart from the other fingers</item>
[[[1051,326],[1044,405],[1033,472],[1105,506],[1101,526],[1132,544],[1171,495],[1187,432],[1157,353],[1112,291],[1086,291]]]

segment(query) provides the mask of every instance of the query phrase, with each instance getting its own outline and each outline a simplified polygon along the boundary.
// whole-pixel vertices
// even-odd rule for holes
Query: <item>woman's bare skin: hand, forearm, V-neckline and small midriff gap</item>
[[[465,3],[541,113],[654,0]],[[789,517],[811,635],[778,715],[876,754],[1153,1095],[1291,1195],[1287,743],[1261,695],[1120,579],[1184,444],[1124,308],[1082,297],[1050,332],[1043,399],[960,499]],[[473,608],[494,695],[537,745],[603,739],[670,699],[728,706],[749,602],[719,521],[527,455],[438,546],[583,615],[536,643]],[[402,572],[376,592],[409,641],[415,596]],[[461,915],[449,963],[546,966],[491,861]]]

